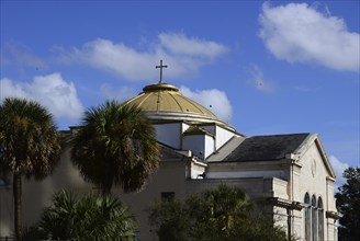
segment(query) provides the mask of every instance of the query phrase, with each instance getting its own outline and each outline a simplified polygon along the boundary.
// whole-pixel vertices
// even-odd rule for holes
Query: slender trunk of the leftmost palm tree
[[[22,239],[21,221],[21,174],[13,174],[13,195],[14,195],[14,228],[16,240]]]

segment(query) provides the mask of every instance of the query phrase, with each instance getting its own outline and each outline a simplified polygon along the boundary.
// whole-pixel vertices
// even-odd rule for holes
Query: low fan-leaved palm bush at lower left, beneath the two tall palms
[[[135,240],[135,219],[128,208],[110,195],[76,196],[59,192],[53,196],[38,223],[24,237],[27,240]]]

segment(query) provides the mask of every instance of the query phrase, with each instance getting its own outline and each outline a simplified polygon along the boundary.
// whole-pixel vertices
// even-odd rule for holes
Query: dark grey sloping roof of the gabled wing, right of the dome
[[[266,161],[285,158],[293,153],[311,134],[290,134],[247,137],[224,162]]]

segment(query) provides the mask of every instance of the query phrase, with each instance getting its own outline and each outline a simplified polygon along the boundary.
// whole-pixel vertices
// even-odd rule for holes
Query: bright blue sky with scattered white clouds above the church
[[[337,176],[360,165],[359,1],[0,4],[0,102],[37,101],[59,129],[158,82],[162,59],[238,133],[317,133]]]

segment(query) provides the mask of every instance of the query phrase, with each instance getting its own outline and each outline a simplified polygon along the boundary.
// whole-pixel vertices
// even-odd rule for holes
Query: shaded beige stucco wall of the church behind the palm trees
[[[184,160],[161,161],[160,170],[150,176],[139,192],[124,194],[114,187],[112,193],[119,196],[138,221],[142,240],[153,240],[155,233],[148,223],[148,207],[155,200],[161,199],[161,193],[173,192],[176,198],[185,196],[185,163]],[[50,197],[60,190],[74,191],[77,194],[97,192],[82,181],[79,172],[72,167],[67,149],[53,175],[41,182],[23,181],[23,227],[31,226],[40,219],[42,209],[50,204]],[[0,236],[11,237],[13,233],[13,198],[12,188],[0,188]]]

